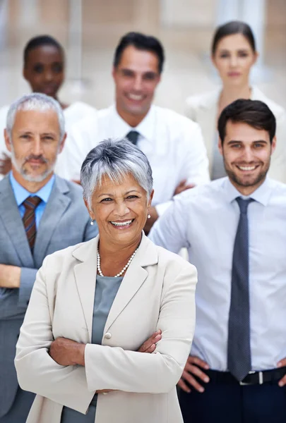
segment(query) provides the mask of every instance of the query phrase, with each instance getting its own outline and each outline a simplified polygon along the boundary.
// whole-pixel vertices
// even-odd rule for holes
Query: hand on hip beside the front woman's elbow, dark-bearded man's
[[[210,378],[201,371],[200,367],[201,369],[205,369],[205,370],[210,368],[208,363],[201,360],[201,358],[193,357],[192,355],[190,355],[188,358],[188,361],[186,362],[184,372],[181,375],[181,379],[178,382],[179,387],[183,391],[188,393],[191,392],[191,389],[185,383],[185,381],[187,381],[189,385],[193,386],[193,388],[195,388],[196,391],[198,392],[205,391],[205,388],[203,388],[203,386],[198,384],[198,381],[196,381],[196,379],[192,376],[193,374],[195,374],[199,379],[204,381],[205,384],[207,384],[208,381],[210,381]]]

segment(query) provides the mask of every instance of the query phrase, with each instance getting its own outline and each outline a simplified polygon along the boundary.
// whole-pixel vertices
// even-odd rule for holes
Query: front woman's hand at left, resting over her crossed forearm
[[[85,344],[67,338],[56,338],[49,347],[49,355],[61,366],[84,366]]]

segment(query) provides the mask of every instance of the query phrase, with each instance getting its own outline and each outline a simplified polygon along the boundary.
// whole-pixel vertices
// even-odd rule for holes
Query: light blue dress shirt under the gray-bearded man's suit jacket
[[[35,209],[35,218],[36,218],[36,228],[38,228],[40,224],[40,220],[42,218],[42,215],[44,213],[44,209],[46,208],[47,201],[49,200],[49,196],[51,195],[52,188],[54,185],[54,175],[52,178],[44,185],[39,191],[37,192],[29,192],[23,188],[20,183],[16,181],[16,179],[13,177],[12,171],[9,173],[10,182],[12,185],[12,189],[15,195],[16,203],[18,205],[18,209],[20,212],[21,218],[23,218],[25,214],[25,206],[23,205],[23,202],[30,196],[32,197],[40,197],[42,200],[40,204]]]

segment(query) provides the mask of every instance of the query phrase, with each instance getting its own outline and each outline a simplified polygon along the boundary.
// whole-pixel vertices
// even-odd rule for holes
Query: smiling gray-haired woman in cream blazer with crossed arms
[[[99,235],[37,274],[15,360],[20,386],[37,393],[27,422],[182,422],[196,269],[145,237],[152,171],[129,141],[91,150],[81,183]]]

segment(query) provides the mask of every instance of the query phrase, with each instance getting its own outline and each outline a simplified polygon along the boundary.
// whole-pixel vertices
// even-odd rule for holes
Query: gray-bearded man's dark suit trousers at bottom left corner
[[[6,415],[0,417],[0,423],[25,423],[35,400],[35,393],[18,388],[15,400]]]

